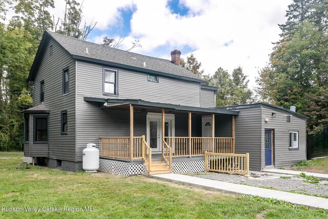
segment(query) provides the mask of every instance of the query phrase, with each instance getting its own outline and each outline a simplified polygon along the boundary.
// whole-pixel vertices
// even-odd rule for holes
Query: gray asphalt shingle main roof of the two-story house
[[[162,72],[179,77],[187,77],[195,81],[203,81],[196,74],[188,71],[180,65],[171,63],[168,59],[155,58],[147,55],[141,55],[133,52],[127,52],[120,49],[114,49],[103,45],[82,41],[77,38],[65,36],[63,34],[46,31],[55,41],[64,47],[73,57],[85,57],[97,59],[100,61],[117,63],[125,66],[139,68],[139,70],[151,70]],[[88,53],[86,53],[88,48]],[[146,67],[144,67],[146,63]]]

